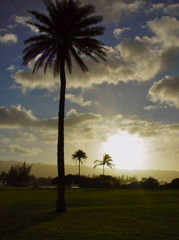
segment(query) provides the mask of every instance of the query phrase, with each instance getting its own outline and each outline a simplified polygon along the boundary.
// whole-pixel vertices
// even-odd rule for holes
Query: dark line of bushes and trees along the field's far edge
[[[18,164],[11,166],[10,170],[0,174],[0,181],[2,185],[9,185],[15,187],[39,187],[58,185],[58,177],[40,177],[36,178],[31,174],[32,165]],[[113,177],[108,175],[99,176],[80,176],[80,175],[66,175],[65,187],[72,188],[73,186],[79,188],[121,188],[121,189],[179,189],[179,178],[175,178],[171,183],[160,185],[158,180],[149,177],[142,178],[138,181],[136,177],[119,176]]]

